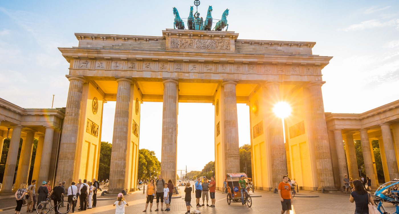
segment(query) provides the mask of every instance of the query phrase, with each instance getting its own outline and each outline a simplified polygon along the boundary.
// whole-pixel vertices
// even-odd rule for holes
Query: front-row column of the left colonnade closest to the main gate
[[[41,150],[41,158],[40,158],[40,168],[39,168],[39,176],[38,180],[44,181],[48,180],[48,174],[50,169],[50,158],[51,158],[51,150],[53,149],[53,136],[54,136],[54,127],[47,126],[46,132],[44,134],[43,139],[43,149]],[[72,168],[73,165],[70,166]],[[59,167],[58,167],[59,169]],[[58,176],[58,173],[57,173]],[[72,179],[72,178],[71,178]],[[54,182],[60,182],[63,180],[55,180]]]

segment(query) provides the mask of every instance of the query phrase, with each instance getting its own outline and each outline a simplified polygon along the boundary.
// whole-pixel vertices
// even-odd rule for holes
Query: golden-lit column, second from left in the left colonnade
[[[15,179],[14,191],[18,190],[22,183],[28,182],[34,137],[35,131],[26,132],[26,140],[24,140],[21,147],[20,161],[18,162],[18,172]]]

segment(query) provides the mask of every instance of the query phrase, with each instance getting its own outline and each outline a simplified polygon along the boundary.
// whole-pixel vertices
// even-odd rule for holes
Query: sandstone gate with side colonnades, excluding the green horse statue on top
[[[50,163],[46,171],[46,167],[40,165],[38,176],[47,179],[33,179],[66,181],[69,185],[72,180],[97,177],[103,105],[107,101],[116,101],[109,178],[111,193],[136,190],[142,102],[163,102],[161,174],[165,180],[176,182],[178,103],[182,102],[212,103],[215,107],[218,189],[226,173],[240,172],[237,103],[245,103],[250,109],[255,189],[273,190],[282,176],[288,174],[305,190],[337,190],[348,170],[350,176],[357,171],[353,139],[358,138],[362,146],[364,144],[366,173],[374,172],[370,176],[373,186],[377,185],[377,178],[369,140],[381,139],[385,178],[397,178],[396,105],[388,104],[387,109],[362,114],[325,113],[321,90],[325,82],[321,71],[332,57],[313,55],[315,42],[241,40],[235,32],[173,29],[163,30],[162,36],[75,36],[79,40],[78,47],[59,48],[70,63],[66,75],[70,81],[67,106],[65,109],[40,109],[54,112],[59,123],[50,126],[47,117],[47,121],[41,121],[41,126],[33,129],[25,122],[31,118],[29,113],[24,113],[27,109],[14,105],[25,119],[19,116],[20,119],[13,120],[10,113],[4,113],[3,109],[7,108],[1,105],[0,131],[4,137],[6,130],[12,129],[10,148],[16,147],[18,153],[16,143],[19,143],[20,133],[30,136],[24,140],[22,151],[26,155],[21,155],[20,162],[28,161],[33,137],[39,137],[41,142],[40,136],[44,134],[44,142],[48,145],[47,129],[54,133],[59,130],[51,136],[59,136],[51,141],[50,153],[56,157],[51,163],[54,162],[55,167]],[[272,111],[280,101],[292,107],[284,127]],[[41,117],[36,116],[38,118]],[[399,136],[396,138],[399,143]],[[9,157],[14,154],[10,152]],[[41,153],[43,157],[44,152]],[[15,164],[16,157],[7,159],[0,194],[11,191]],[[16,186],[27,181],[24,173],[18,167]]]

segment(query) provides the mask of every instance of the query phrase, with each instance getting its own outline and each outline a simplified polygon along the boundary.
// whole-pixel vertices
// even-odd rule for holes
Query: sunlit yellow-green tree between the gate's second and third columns
[[[146,180],[148,178],[148,180],[150,180],[158,176],[161,171],[161,162],[158,161],[155,152],[148,149],[139,149],[138,153],[137,178],[140,180]]]

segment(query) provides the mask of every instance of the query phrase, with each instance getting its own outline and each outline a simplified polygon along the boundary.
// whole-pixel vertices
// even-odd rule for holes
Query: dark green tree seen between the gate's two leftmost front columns
[[[109,167],[111,166],[111,153],[112,153],[112,144],[101,141],[98,180],[109,179]]]

